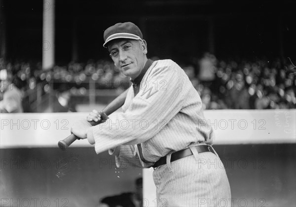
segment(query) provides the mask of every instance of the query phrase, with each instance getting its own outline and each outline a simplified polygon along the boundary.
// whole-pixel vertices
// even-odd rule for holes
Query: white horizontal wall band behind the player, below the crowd
[[[74,121],[86,118],[87,114],[0,114],[0,148],[57,147],[60,139],[70,135]],[[204,114],[206,119],[200,120],[200,124],[208,122],[215,129],[215,144],[295,143],[295,109],[206,110]],[[77,140],[73,146],[89,146],[89,143]]]

